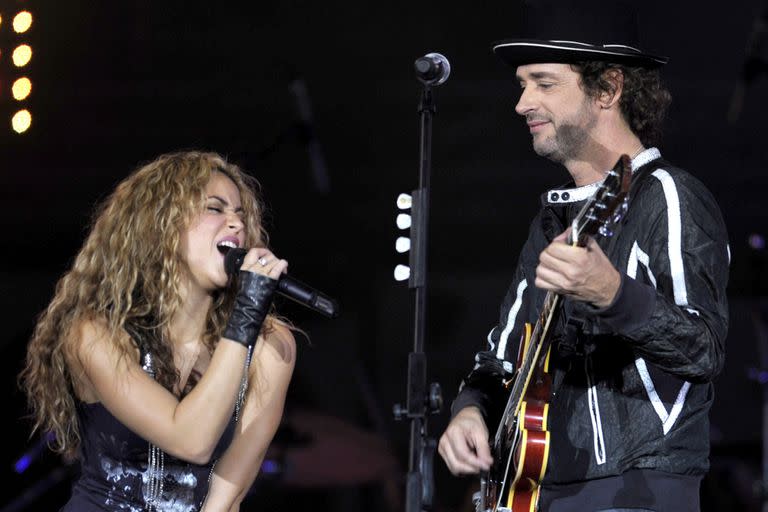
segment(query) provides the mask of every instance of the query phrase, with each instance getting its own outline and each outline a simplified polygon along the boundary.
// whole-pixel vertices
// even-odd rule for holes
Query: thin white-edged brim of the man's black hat
[[[597,60],[658,68],[669,60],[667,57],[650,55],[629,46],[596,46],[574,41],[544,41],[540,39],[506,39],[492,45],[493,52],[510,66],[523,64],[558,62],[576,63]]]

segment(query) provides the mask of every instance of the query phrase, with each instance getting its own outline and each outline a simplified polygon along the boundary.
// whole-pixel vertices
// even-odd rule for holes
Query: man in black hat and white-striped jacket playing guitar
[[[550,350],[539,356],[550,380],[528,385],[545,405],[540,474],[515,481],[532,448],[522,439],[528,419],[513,408],[509,481],[501,496],[481,491],[478,510],[698,511],[728,325],[726,228],[706,187],[654,146],[670,101],[659,75],[667,59],[638,49],[631,6],[553,4],[531,3],[525,31],[493,51],[516,71],[515,110],[534,151],[571,181],[542,196],[439,453],[456,475],[487,477],[506,464],[491,440],[510,419],[518,344],[556,295]],[[613,236],[570,243],[569,226],[622,155],[632,180]],[[529,494],[525,505],[512,506],[516,492]]]

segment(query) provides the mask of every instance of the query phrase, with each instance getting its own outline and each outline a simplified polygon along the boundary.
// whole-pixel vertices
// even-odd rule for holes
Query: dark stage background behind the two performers
[[[280,460],[304,457],[327,478],[288,465],[260,477],[243,510],[404,510],[408,424],[391,409],[405,400],[414,313],[412,290],[392,270],[407,263],[394,250],[407,235],[395,226],[395,199],[418,187],[413,61],[438,51],[452,65],[435,89],[425,347],[429,380],[442,384],[448,402],[497,318],[538,194],[567,178],[531,150],[513,109],[514,74],[490,52],[514,25],[517,2],[4,0],[0,119],[14,107],[8,57],[22,38],[9,22],[22,6],[35,15],[23,38],[35,52],[26,102],[33,126],[20,136],[0,121],[2,510],[56,510],[68,492],[69,468],[49,453],[23,474],[13,471],[36,441],[15,384],[35,316],[94,205],[137,165],[178,149],[217,151],[252,171],[270,208],[275,252],[344,310],[327,320],[282,304],[311,340],[300,341],[291,422],[276,445],[288,454]],[[766,57],[766,34],[747,51],[765,6],[643,6],[645,48],[670,57],[674,102],[662,152],[713,191],[732,250],[728,360],[716,383],[703,507],[757,510],[762,393],[750,375],[765,341],[768,282],[765,255],[748,238],[768,234],[768,80],[763,69],[746,81],[742,72],[748,56]],[[309,124],[291,83],[306,87]],[[739,84],[743,102],[729,118]],[[310,143],[320,149],[327,188]],[[300,421],[307,414],[320,419]],[[446,422],[446,411],[434,416],[430,435],[439,437]],[[338,451],[312,451],[333,443]],[[470,509],[474,479],[450,477],[441,460],[435,478],[435,510]]]

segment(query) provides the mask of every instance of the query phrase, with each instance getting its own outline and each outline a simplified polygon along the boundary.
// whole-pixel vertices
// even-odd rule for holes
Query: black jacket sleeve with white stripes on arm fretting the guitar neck
[[[598,333],[619,334],[657,367],[691,381],[722,369],[730,253],[719,208],[695,178],[657,169],[631,208],[641,222]],[[639,209],[639,215],[638,210]]]

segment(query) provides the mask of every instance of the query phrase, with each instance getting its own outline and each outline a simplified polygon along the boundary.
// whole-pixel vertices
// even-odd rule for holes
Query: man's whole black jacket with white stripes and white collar
[[[728,327],[726,229],[710,192],[656,148],[632,167],[629,210],[616,234],[599,242],[622,274],[616,299],[604,309],[564,301],[551,333],[545,485],[632,469],[708,469],[712,380],[723,366]],[[499,323],[452,405],[453,414],[478,406],[491,437],[508,396],[502,379],[513,377],[524,324],[536,323],[546,295],[534,286],[539,254],[598,186],[543,197]]]

